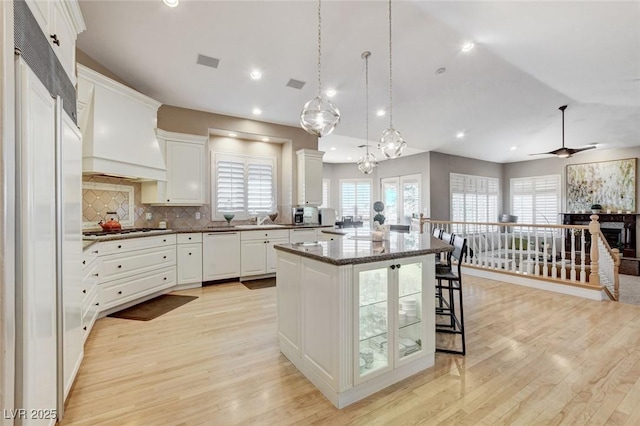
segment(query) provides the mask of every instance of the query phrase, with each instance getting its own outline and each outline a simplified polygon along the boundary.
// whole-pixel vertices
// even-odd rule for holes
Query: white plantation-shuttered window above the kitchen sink
[[[214,153],[211,169],[212,219],[224,213],[246,219],[276,210],[274,158]]]

